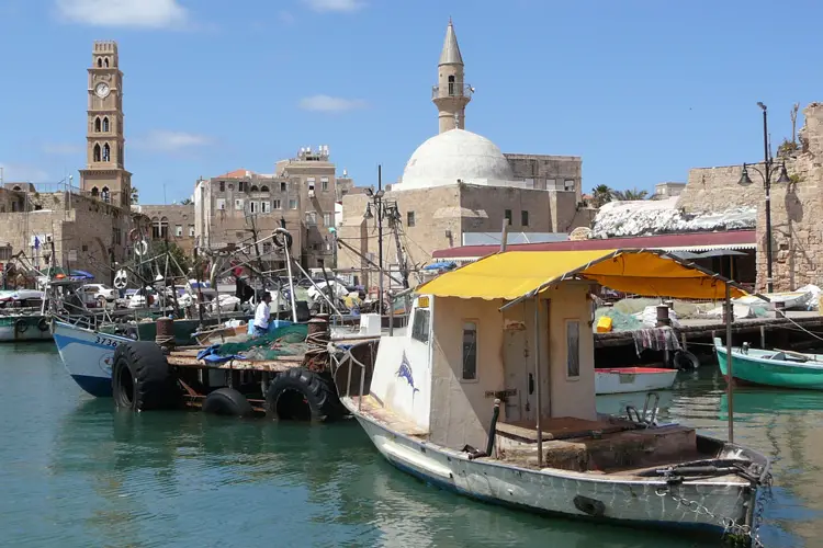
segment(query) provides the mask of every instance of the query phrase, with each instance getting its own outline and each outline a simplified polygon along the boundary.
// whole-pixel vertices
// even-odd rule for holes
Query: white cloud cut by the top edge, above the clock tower
[[[178,0],[55,0],[66,21],[91,26],[166,28],[185,26],[189,13]]]

